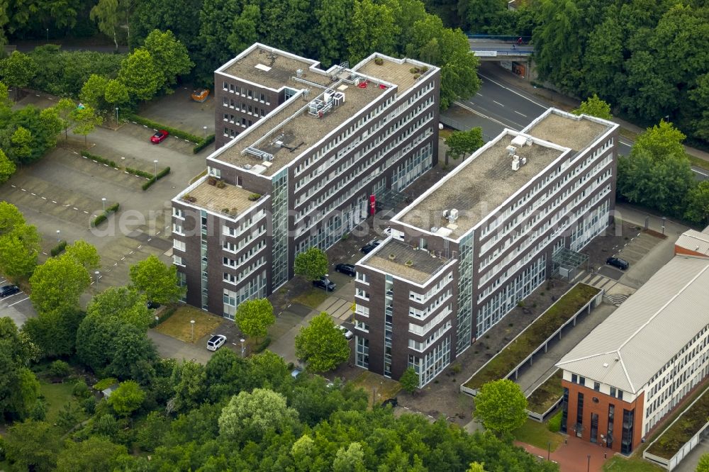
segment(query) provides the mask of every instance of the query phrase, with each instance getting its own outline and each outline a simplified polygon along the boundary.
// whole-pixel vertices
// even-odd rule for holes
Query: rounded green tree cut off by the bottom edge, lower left
[[[124,458],[128,458],[128,449],[125,449],[125,446],[114,444],[106,437],[90,436],[82,442],[67,442],[57,456],[55,470],[57,472],[113,471]]]

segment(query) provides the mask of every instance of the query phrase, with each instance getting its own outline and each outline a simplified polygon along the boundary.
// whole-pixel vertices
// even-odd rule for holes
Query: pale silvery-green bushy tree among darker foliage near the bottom
[[[263,437],[269,429],[282,432],[298,420],[298,412],[289,408],[280,393],[255,388],[240,392],[229,400],[219,417],[219,434],[224,439]]]

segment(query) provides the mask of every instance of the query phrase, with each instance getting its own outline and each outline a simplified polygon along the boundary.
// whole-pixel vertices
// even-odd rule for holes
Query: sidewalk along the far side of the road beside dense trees
[[[491,65],[485,65],[485,64],[491,64]],[[520,77],[517,77],[515,74],[510,74],[507,73],[504,69],[501,67],[494,67],[494,64],[491,62],[483,62],[481,63],[481,68],[480,72],[482,74],[485,74],[489,77],[492,77],[493,79],[496,80],[496,82],[500,82],[501,84],[504,84],[506,86],[514,87],[516,89],[522,89],[527,94],[531,94],[533,96],[537,96],[541,99],[545,99],[549,103],[552,103],[553,106],[560,108],[565,111],[571,111],[574,108],[577,108],[581,102],[578,100],[566,96],[564,94],[559,94],[556,91],[549,90],[549,89],[542,89],[540,87],[532,85],[531,82],[527,81],[526,79],[521,79]],[[618,123],[621,128],[625,128],[626,130],[631,131],[632,133],[635,134],[640,134],[644,133],[645,129],[641,128],[640,126],[637,126],[633,123],[630,123],[629,121],[622,120],[618,117],[613,117],[613,121],[615,123]],[[630,141],[627,137],[625,138],[626,140]],[[709,152],[704,152],[702,150],[698,150],[694,147],[688,147],[685,146],[684,150],[687,152],[687,154],[690,154],[694,157],[698,157],[699,159],[704,159],[705,161],[709,161]]]

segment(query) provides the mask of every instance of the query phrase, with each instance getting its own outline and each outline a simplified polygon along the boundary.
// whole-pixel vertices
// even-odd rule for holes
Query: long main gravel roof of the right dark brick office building
[[[520,160],[526,158],[526,164],[520,162],[519,170],[515,171],[507,149],[515,135],[508,132],[489,143],[489,147],[468,158],[394,220],[426,231],[439,227],[438,234],[457,239],[565,152],[532,140],[531,145],[517,147],[515,154]],[[458,210],[458,218],[449,224],[443,212],[453,208]]]

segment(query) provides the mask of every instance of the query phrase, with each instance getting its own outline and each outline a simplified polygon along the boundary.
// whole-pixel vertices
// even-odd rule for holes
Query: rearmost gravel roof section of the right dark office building
[[[535,120],[522,132],[538,137],[540,140],[554,142],[559,146],[570,147],[579,152],[591,145],[601,134],[610,129],[586,117],[561,114],[555,110]]]

